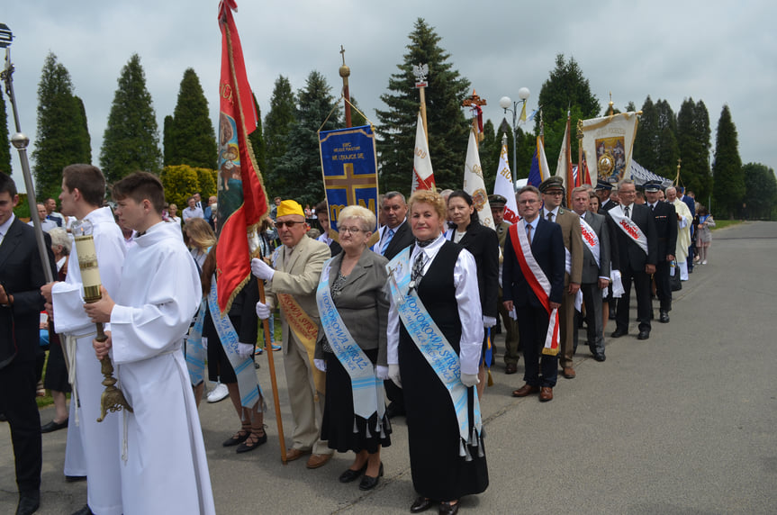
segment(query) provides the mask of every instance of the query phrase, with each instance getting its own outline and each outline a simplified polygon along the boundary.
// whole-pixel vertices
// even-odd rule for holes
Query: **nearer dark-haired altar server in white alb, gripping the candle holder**
[[[113,185],[123,227],[138,231],[124,261],[115,301],[88,304],[92,321],[110,322],[94,341],[110,355],[133,412],[121,457],[125,515],[215,513],[203,433],[181,342],[201,299],[200,277],[179,230],[162,220],[157,176],[136,172]]]

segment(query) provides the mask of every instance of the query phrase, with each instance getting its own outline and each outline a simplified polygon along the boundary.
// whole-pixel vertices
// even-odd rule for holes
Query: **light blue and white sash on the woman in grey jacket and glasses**
[[[316,303],[319,306],[321,327],[326,333],[332,352],[350,376],[351,391],[354,397],[354,414],[369,420],[373,413],[377,412],[375,431],[383,436],[385,412],[383,381],[375,377],[375,366],[351,336],[332,300],[330,265],[333,259],[330,258],[324,263],[321,270],[321,281],[316,290]],[[354,422],[354,430],[356,430],[356,421]],[[367,428],[367,437],[369,438],[369,436],[369,428]]]

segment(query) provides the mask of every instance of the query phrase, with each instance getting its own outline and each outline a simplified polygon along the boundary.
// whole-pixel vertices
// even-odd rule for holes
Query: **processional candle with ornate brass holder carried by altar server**
[[[76,250],[78,254],[78,268],[81,271],[81,283],[84,285],[84,302],[96,303],[103,298],[100,293],[100,268],[97,267],[97,252],[95,250],[95,239],[92,236],[92,222],[88,220],[77,221],[73,224],[71,231],[76,241]],[[97,341],[103,342],[108,337],[105,335],[102,322],[96,322]],[[132,411],[132,408],[124,398],[124,394],[116,387],[116,378],[113,377],[113,363],[111,357],[105,356],[100,360],[100,371],[104,376],[103,385],[105,390],[100,397],[100,416],[98,422],[105,419],[108,411],[115,412],[119,410]]]

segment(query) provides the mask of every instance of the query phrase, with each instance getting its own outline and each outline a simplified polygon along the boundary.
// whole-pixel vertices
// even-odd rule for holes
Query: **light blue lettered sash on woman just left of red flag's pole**
[[[208,294],[208,310],[211,312],[213,326],[221,339],[221,345],[230,365],[238,378],[238,388],[240,392],[240,405],[251,409],[259,400],[262,393],[261,386],[257,380],[257,373],[254,368],[254,360],[250,357],[243,359],[238,354],[238,333],[232,326],[229,315],[221,313],[219,309],[218,293],[216,291],[216,276],[211,280],[211,292]],[[248,342],[243,342],[248,343]],[[262,396],[264,398],[264,396]],[[259,411],[264,411],[265,406],[260,405]]]

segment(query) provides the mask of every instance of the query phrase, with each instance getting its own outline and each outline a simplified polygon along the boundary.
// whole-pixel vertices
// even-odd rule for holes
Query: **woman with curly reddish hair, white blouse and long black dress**
[[[442,197],[419,191],[409,204],[416,242],[389,264],[389,375],[404,392],[412,482],[419,494],[411,512],[427,510],[438,501],[439,512],[451,514],[458,510],[461,497],[483,492],[488,486],[480,410],[473,388],[481,361],[483,314],[472,254],[442,235],[447,212]],[[410,274],[410,283],[402,283],[406,289],[400,288],[397,280],[402,271],[405,280]],[[419,337],[411,336],[407,329],[411,320],[403,318],[400,311],[416,300],[441,332],[434,338],[444,337],[452,349],[453,375],[438,375],[431,364],[432,354],[422,350],[425,347]],[[454,392],[463,393],[458,411]]]

